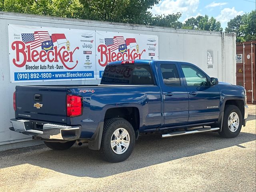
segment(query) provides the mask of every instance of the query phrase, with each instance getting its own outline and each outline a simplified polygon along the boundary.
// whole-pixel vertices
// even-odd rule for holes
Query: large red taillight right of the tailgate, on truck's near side
[[[67,116],[74,117],[82,115],[82,97],[67,95]]]

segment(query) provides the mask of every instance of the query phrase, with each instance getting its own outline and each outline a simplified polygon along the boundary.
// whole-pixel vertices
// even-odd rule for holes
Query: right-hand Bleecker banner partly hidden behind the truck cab
[[[158,36],[96,31],[98,78],[108,62],[135,59],[158,59]]]

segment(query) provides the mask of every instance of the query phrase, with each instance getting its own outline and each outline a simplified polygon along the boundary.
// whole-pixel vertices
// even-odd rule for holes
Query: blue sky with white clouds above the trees
[[[179,21],[182,23],[188,18],[207,14],[209,18],[213,16],[220,21],[225,30],[230,19],[255,9],[255,0],[161,0],[149,11],[153,15],[181,12]]]

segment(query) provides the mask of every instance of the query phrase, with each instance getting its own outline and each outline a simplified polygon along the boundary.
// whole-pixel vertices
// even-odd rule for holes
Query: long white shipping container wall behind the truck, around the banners
[[[12,95],[16,85],[70,85],[98,84],[100,82],[100,79],[11,82],[10,70],[13,69],[13,61],[9,59],[12,51],[10,42],[8,42],[8,38],[10,39],[10,36],[8,36],[9,25],[28,26],[28,28],[29,26],[49,27],[60,31],[62,29],[95,30],[115,34],[138,34],[141,37],[146,35],[157,36],[158,52],[156,55],[159,59],[191,62],[204,70],[209,76],[216,77],[221,82],[236,84],[236,34],[0,12],[0,150],[34,144],[35,142],[31,141],[28,136],[22,136],[8,129],[10,127],[9,120],[14,117]],[[15,34],[12,39],[14,38],[16,38]],[[148,44],[150,44],[150,41],[154,40],[148,39]],[[154,46],[154,43],[151,44]],[[72,43],[71,45],[73,46]],[[84,46],[87,46],[87,44],[84,44]],[[9,49],[9,47],[11,48]],[[96,50],[96,48],[94,49]],[[148,49],[152,49],[152,46],[148,46]],[[92,52],[87,53],[92,54]],[[155,53],[152,55],[154,56]],[[84,64],[90,64],[90,62]]]

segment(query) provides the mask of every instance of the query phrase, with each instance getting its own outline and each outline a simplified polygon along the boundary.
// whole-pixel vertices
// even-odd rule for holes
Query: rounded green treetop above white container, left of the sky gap
[[[183,29],[196,29],[196,30],[207,30],[207,31],[222,31],[220,22],[216,21],[215,18],[209,19],[208,15],[192,17],[185,21],[182,26]]]

